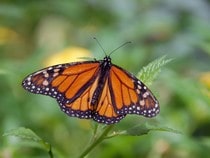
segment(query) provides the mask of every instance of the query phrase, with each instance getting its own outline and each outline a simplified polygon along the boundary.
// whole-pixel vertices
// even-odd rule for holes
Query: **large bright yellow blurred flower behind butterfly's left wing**
[[[83,61],[85,57],[92,57],[91,52],[81,47],[70,47],[55,53],[45,61],[45,66]]]

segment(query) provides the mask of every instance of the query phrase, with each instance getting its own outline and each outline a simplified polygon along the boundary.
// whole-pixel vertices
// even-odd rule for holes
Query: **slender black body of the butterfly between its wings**
[[[99,79],[98,85],[93,93],[93,97],[91,100],[91,105],[94,106],[94,109],[97,108],[98,102],[101,97],[102,89],[104,88],[104,83],[109,76],[109,70],[111,69],[112,63],[111,58],[109,56],[104,57],[103,60],[100,62],[100,70],[99,70]]]

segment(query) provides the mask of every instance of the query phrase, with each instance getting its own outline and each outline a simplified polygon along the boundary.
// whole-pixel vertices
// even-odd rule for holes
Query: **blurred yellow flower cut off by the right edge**
[[[206,87],[204,93],[210,97],[210,72],[205,72],[200,76],[200,82]]]

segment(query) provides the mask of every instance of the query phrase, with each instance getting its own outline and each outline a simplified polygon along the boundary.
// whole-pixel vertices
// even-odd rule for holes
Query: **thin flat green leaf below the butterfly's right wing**
[[[130,136],[141,136],[141,135],[148,134],[150,131],[164,131],[164,132],[181,134],[180,131],[169,128],[169,127],[158,127],[158,126],[152,126],[148,124],[134,126],[124,131],[124,133],[121,133],[121,134],[130,135]]]

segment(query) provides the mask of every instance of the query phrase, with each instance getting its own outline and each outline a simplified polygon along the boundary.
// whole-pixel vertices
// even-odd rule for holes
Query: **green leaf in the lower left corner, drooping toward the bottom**
[[[3,136],[16,136],[23,140],[32,141],[38,143],[44,150],[51,152],[51,145],[41,139],[36,133],[31,129],[25,127],[19,127],[17,129],[12,129],[3,134]]]

